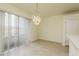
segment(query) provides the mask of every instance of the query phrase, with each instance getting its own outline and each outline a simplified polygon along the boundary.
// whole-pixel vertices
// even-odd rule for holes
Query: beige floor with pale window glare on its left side
[[[60,43],[37,40],[28,46],[20,46],[11,49],[4,55],[7,56],[68,56],[68,47]]]

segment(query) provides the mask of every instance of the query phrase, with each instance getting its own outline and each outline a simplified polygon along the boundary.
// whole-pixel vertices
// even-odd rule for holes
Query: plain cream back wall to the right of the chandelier
[[[64,20],[62,15],[43,19],[39,26],[38,38],[53,42],[62,42],[64,39]]]

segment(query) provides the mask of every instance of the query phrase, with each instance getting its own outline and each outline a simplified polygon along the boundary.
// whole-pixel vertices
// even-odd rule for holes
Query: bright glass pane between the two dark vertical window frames
[[[9,14],[9,25],[10,25],[10,47],[13,48],[17,46],[18,42],[18,16]]]

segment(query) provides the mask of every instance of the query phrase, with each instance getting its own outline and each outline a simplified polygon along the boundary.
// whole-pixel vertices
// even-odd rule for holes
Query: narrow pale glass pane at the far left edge
[[[3,54],[4,51],[4,21],[5,21],[5,16],[3,12],[0,12],[0,55]]]

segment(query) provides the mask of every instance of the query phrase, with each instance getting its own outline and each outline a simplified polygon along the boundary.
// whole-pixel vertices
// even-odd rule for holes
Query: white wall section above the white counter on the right
[[[79,12],[65,15],[66,34],[79,34]]]

